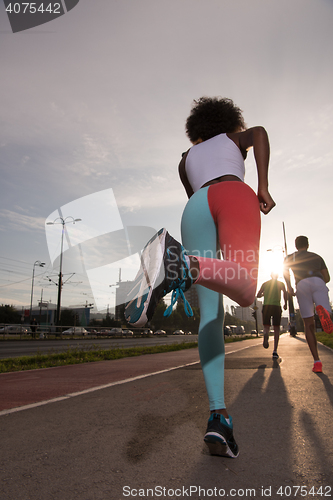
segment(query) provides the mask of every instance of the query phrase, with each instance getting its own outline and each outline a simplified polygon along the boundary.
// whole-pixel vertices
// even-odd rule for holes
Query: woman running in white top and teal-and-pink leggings
[[[246,129],[241,110],[226,98],[194,101],[186,133],[193,146],[179,164],[189,197],[181,221],[183,245],[165,229],[147,243],[125,317],[142,326],[164,295],[172,291],[172,309],[184,291],[197,285],[199,355],[211,411],[204,440],[212,454],[235,458],[238,446],[224,402],[222,295],[242,307],[255,298],[260,210],[267,214],[275,206],[268,191],[269,141],[263,127]],[[244,183],[244,160],[251,147],[257,194]]]

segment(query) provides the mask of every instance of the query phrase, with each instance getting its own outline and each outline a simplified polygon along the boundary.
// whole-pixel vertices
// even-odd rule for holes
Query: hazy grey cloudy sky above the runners
[[[332,25],[331,0],[80,0],[13,33],[0,0],[0,304],[29,308],[33,270],[33,305],[56,303],[61,225],[46,221],[68,217],[62,304],[95,311],[119,279],[108,232],[180,238],[178,163],[203,95],[232,98],[269,135],[276,207],[262,215],[258,286],[282,259],[283,222],[288,253],[305,234],[333,276]],[[245,182],[256,190],[252,153]],[[119,258],[130,279],[135,253]]]

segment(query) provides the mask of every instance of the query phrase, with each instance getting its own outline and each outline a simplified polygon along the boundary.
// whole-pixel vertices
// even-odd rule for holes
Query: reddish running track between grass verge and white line
[[[0,411],[199,362],[198,349],[0,374]]]

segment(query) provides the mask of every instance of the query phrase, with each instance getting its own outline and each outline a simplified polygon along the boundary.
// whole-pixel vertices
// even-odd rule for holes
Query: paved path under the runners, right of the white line
[[[301,335],[281,338],[281,362],[252,344],[226,357],[236,460],[205,449],[191,364],[1,415],[1,500],[333,498],[333,352],[319,346],[314,374]]]

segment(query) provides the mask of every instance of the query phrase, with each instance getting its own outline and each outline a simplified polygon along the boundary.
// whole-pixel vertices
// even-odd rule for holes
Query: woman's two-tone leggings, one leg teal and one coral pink
[[[210,409],[218,410],[225,408],[222,294],[243,307],[254,301],[260,239],[258,198],[243,182],[201,188],[184,209],[181,233],[184,247],[200,265],[198,284],[194,285],[200,305],[199,354]],[[219,249],[223,261],[217,260]]]

